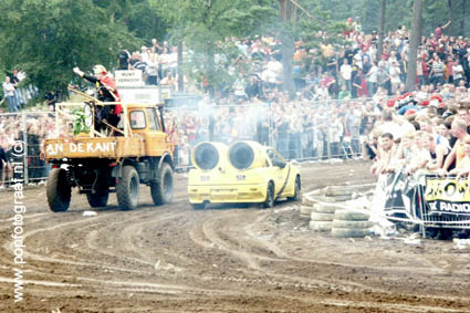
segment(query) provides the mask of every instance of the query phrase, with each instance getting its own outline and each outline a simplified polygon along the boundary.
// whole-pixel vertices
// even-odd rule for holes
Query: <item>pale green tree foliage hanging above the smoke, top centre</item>
[[[239,56],[234,45],[222,44],[226,38],[264,33],[278,17],[273,1],[269,0],[160,0],[154,3],[160,15],[167,17],[174,42],[185,41],[194,52],[185,60],[188,62],[185,69],[190,69],[186,73],[197,82],[205,80],[216,88],[232,83],[228,66],[232,59]],[[216,64],[216,55],[227,59]],[[232,70],[237,72],[240,69]]]

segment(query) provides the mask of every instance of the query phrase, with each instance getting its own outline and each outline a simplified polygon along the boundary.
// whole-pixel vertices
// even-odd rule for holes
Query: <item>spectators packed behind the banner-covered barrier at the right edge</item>
[[[422,175],[456,176],[470,184],[470,101],[462,93],[437,106],[398,115],[385,108],[372,131],[369,156],[374,175],[405,174],[418,181]],[[459,238],[468,238],[462,231]],[[446,239],[448,229],[431,229],[428,236]]]

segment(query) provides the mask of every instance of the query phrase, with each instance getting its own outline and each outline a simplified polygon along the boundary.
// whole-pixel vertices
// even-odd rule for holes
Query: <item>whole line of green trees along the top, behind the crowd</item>
[[[452,20],[449,34],[468,34],[467,0],[424,0],[422,34]],[[228,36],[270,34],[282,41],[284,87],[292,91],[293,44],[320,44],[318,30],[341,32],[347,18],[367,32],[411,28],[414,0],[2,0],[0,69],[28,74],[40,91],[65,91],[72,69],[103,64],[113,69],[122,48],[138,49],[153,38],[185,42],[201,55],[200,72],[209,84],[223,82],[215,66],[219,42]],[[338,39],[332,39],[333,41]],[[181,66],[182,69],[182,66]]]

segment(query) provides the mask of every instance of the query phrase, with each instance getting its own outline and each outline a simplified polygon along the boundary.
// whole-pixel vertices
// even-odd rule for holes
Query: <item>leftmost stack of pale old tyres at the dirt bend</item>
[[[310,229],[316,231],[331,231],[336,210],[341,210],[337,202],[351,200],[353,190],[347,186],[328,186],[322,195],[315,196],[318,200],[311,213]]]

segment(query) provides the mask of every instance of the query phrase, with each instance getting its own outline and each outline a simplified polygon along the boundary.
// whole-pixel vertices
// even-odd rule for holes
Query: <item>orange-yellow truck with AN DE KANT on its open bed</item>
[[[69,209],[72,188],[85,194],[91,207],[107,205],[116,192],[122,209],[138,205],[140,185],[147,185],[155,205],[173,199],[173,144],[165,133],[163,106],[86,101],[56,105],[56,134],[45,139],[45,159],[52,165],[46,195],[52,211]],[[119,124],[97,121],[96,111],[121,104]],[[105,132],[95,128],[104,123]]]

